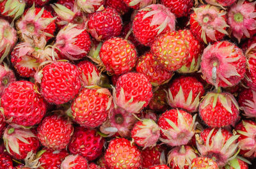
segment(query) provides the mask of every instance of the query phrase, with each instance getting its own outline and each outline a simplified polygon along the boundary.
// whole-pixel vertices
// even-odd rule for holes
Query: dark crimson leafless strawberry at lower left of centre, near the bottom
[[[70,140],[68,150],[72,154],[79,154],[92,161],[102,154],[104,143],[105,139],[95,129],[78,127]]]

